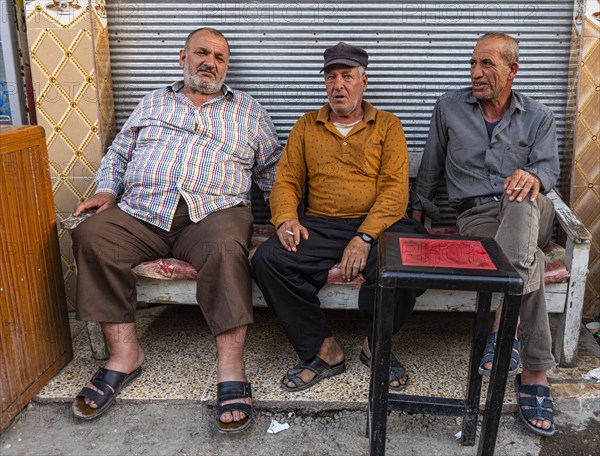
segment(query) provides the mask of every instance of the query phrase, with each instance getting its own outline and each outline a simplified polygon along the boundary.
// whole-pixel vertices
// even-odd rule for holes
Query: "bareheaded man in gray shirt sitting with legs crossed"
[[[433,202],[446,177],[448,199],[462,235],[494,237],[524,281],[523,302],[510,374],[522,345],[523,370],[515,384],[519,415],[534,432],[555,432],[546,370],[555,365],[544,294],[545,258],[554,208],[544,196],[560,168],[552,111],[512,90],[518,70],[516,40],[503,33],[482,36],[471,57],[470,88],[436,103],[412,194],[413,217],[436,219]],[[479,372],[490,375],[500,309]],[[520,341],[520,343],[519,343]]]

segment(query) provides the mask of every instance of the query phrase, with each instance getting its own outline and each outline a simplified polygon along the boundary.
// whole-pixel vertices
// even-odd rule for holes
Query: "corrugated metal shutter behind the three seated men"
[[[150,90],[181,79],[178,52],[201,26],[231,44],[227,83],[269,111],[282,143],[296,120],[326,102],[323,50],[338,41],[369,52],[365,98],[403,122],[411,152],[425,143],[433,104],[469,85],[469,57],[481,34],[520,42],[514,87],[556,113],[561,154],[573,0],[487,2],[184,3],[109,1],[110,57],[117,128]],[[453,211],[443,214],[446,220]]]

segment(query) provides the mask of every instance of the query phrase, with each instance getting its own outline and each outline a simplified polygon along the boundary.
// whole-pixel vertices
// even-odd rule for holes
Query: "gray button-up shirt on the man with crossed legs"
[[[467,198],[503,193],[504,179],[515,169],[538,176],[543,191],[555,185],[560,167],[552,110],[513,90],[489,139],[471,88],[448,92],[433,111],[412,207],[439,218],[432,200],[444,172],[448,202],[456,207]]]

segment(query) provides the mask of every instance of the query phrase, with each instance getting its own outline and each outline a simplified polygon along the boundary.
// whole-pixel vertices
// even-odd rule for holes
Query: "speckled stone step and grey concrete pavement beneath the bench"
[[[90,357],[83,325],[72,321],[73,361],[0,435],[2,456],[369,454],[364,386],[368,371],[357,360],[364,329],[358,314],[328,314],[346,349],[348,372],[321,382],[310,394],[294,397],[277,385],[295,362],[293,352],[268,311],[258,310],[246,348],[255,417],[249,430],[236,435],[219,434],[214,426],[214,351],[197,308],[159,306],[138,314],[138,335],[146,352],[143,377],[123,390],[102,417],[91,422],[74,419],[72,398],[99,363]],[[412,390],[407,393],[436,390],[437,395],[460,396],[457,385],[464,383],[461,367],[468,356],[463,333],[468,338],[471,321],[468,314],[415,315],[394,342],[394,351],[402,354],[411,373]],[[589,376],[600,367],[600,346],[584,329],[581,336],[577,365],[549,374],[557,434],[546,438],[526,430],[514,413],[509,385],[495,454],[600,454],[600,381]],[[439,344],[432,343],[436,339]],[[275,362],[269,361],[273,357]],[[485,397],[485,391],[482,394]],[[272,420],[289,428],[270,434]],[[387,454],[477,454],[477,446],[461,446],[455,440],[460,428],[461,419],[456,417],[390,413]]]

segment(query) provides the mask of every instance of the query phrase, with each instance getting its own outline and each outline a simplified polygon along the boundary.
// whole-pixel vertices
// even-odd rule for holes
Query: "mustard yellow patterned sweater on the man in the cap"
[[[343,137],[331,108],[302,116],[290,132],[271,193],[271,222],[298,218],[308,184],[306,215],[365,217],[360,232],[377,238],[406,214],[408,151],[400,120],[363,101],[364,119]]]

